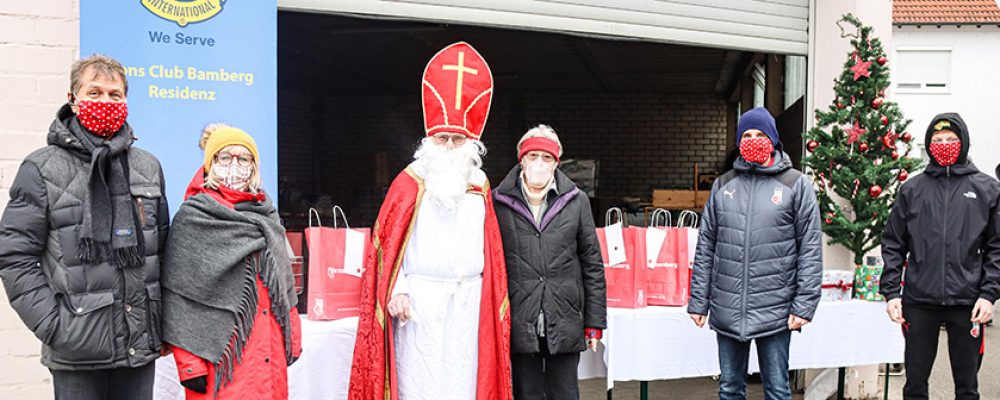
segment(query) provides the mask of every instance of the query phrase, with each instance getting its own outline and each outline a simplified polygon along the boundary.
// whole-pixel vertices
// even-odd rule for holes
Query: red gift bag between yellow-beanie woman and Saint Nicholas
[[[337,212],[344,217],[345,228],[337,226]],[[316,215],[318,226],[313,226]],[[333,208],[334,227],[319,222],[319,213],[309,210],[309,228],[305,230],[309,250],[309,313],[311,320],[334,320],[356,317],[361,307],[361,274],[365,256],[371,251],[368,228],[351,229],[340,207]]]

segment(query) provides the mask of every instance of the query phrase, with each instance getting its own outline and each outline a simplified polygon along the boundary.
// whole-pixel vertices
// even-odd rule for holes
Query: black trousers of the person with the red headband
[[[545,338],[542,351],[511,354],[515,400],[575,400],[580,398],[576,368],[580,353],[549,354]]]

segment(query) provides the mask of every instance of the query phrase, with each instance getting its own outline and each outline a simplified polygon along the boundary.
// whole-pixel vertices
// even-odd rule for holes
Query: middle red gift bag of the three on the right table
[[[666,224],[659,225],[664,219]],[[637,237],[637,257],[645,266],[647,297],[650,305],[683,306],[691,288],[687,232],[670,226],[670,213],[657,209],[651,226]]]

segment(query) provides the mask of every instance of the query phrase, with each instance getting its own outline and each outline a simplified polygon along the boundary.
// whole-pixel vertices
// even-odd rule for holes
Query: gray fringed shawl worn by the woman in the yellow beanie
[[[258,274],[291,363],[288,319],[297,298],[285,229],[270,200],[231,209],[199,194],[181,205],[170,225],[160,278],[163,338],[212,363],[216,393],[232,379],[253,330]]]

